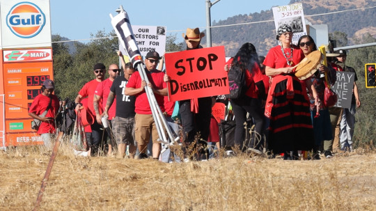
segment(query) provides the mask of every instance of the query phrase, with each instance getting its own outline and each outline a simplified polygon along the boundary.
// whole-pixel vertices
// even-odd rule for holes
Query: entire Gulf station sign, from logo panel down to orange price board
[[[28,110],[53,79],[49,0],[0,0],[0,147],[42,143]]]

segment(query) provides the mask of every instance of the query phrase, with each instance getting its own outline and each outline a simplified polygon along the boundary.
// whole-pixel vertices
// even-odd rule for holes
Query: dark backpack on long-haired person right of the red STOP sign
[[[226,97],[230,99],[238,99],[248,90],[245,71],[240,70],[238,66],[233,65],[228,70],[228,88],[230,93]]]

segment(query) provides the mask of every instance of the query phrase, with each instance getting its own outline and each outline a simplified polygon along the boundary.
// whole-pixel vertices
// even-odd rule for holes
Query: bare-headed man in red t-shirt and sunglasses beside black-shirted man
[[[95,110],[95,118],[97,120],[97,123],[100,125],[102,125],[101,118],[103,116],[103,113],[101,111],[103,111],[104,108],[106,107],[107,98],[109,97],[109,92],[112,86],[112,82],[113,80],[116,79],[116,77],[118,77],[119,73],[120,73],[120,69],[117,64],[109,65],[109,78],[100,82],[100,84],[98,84],[97,88],[95,89],[93,105],[94,105],[94,110]],[[112,136],[110,128],[112,128],[111,120],[115,117],[115,114],[116,114],[116,101],[113,102],[112,106],[109,108],[109,111],[107,112],[108,120],[109,120],[109,127],[106,127],[105,129],[106,129],[107,135],[110,137],[110,142],[107,143],[109,146],[107,155],[111,155],[112,146],[114,146],[113,136]]]

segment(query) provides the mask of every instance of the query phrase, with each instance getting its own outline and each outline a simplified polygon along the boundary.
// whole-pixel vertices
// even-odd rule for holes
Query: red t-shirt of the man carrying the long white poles
[[[163,89],[166,88],[167,85],[163,81],[164,72],[161,72],[159,70],[152,70],[151,73],[149,73],[147,70],[147,75],[150,83],[155,87],[155,89]],[[141,87],[141,76],[139,74],[139,71],[134,72],[132,74],[132,77],[130,77],[130,80],[127,83],[127,86],[130,88],[140,88]],[[164,112],[164,96],[162,95],[155,95],[155,99],[157,100],[159,107],[161,108],[162,112]],[[150,104],[148,101],[148,96],[146,95],[146,92],[143,91],[136,95],[136,102],[134,104],[135,109],[134,111],[136,114],[152,114],[150,110]]]

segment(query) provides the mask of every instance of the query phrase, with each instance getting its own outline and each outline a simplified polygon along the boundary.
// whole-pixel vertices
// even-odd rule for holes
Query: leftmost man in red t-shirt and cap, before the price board
[[[55,132],[55,117],[58,114],[58,97],[52,94],[55,86],[54,81],[46,79],[42,85],[40,93],[31,103],[29,116],[40,120],[38,134],[47,148],[52,148],[52,134]],[[45,113],[45,111],[47,111]],[[40,115],[45,114],[41,117]]]

